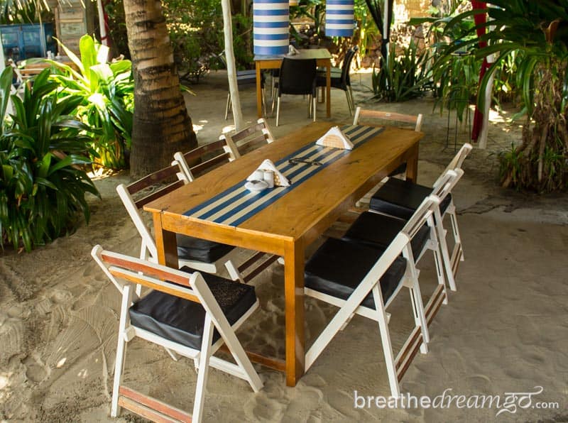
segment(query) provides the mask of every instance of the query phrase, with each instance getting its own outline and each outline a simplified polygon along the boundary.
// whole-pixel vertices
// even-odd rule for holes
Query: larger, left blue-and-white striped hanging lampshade
[[[283,0],[253,1],[253,42],[256,55],[283,55],[290,45],[290,4]]]

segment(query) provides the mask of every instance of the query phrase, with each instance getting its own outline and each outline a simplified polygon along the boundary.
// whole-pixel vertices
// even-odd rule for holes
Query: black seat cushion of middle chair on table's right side
[[[397,217],[364,212],[349,227],[343,239],[361,242],[371,247],[387,248],[405,224],[406,221]],[[420,256],[420,253],[424,250],[428,238],[430,238],[430,228],[424,225],[410,240],[415,258]]]

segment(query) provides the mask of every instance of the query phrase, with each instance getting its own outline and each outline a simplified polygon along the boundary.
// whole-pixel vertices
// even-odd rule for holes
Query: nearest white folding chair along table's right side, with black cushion
[[[351,316],[360,314],[378,322],[391,395],[400,395],[400,379],[417,349],[426,353],[430,341],[411,241],[432,216],[438,203],[435,196],[425,199],[386,249],[329,238],[307,260],[305,295],[340,309],[307,351],[306,370]],[[386,309],[403,286],[410,290],[415,327],[395,357]]]

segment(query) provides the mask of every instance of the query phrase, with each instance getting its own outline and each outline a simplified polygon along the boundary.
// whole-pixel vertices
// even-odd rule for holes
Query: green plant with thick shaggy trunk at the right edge
[[[484,93],[491,72],[510,55],[523,57],[516,69],[516,85],[527,120],[522,143],[515,148],[515,154],[501,155],[502,184],[538,192],[565,189],[568,186],[568,0],[487,3],[489,18],[481,26],[488,32],[480,40],[488,42],[488,46],[476,50],[475,55],[483,58],[498,54],[498,57],[481,80],[479,93]],[[446,31],[480,12],[485,10],[460,13],[447,23]],[[477,41],[466,37],[455,40],[435,66],[444,65],[453,51]],[[480,106],[483,101],[483,95],[478,95]]]

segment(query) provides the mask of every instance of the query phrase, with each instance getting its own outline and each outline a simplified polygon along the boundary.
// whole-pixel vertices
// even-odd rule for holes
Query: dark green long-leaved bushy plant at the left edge
[[[82,97],[58,96],[58,83],[44,70],[27,84],[23,99],[11,96],[14,113],[0,136],[0,246],[31,251],[89,220],[85,194],[99,196],[80,165],[89,127],[72,114]],[[12,70],[0,75],[0,114],[9,102]]]

